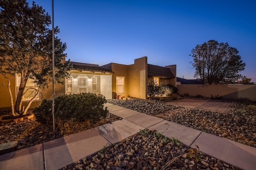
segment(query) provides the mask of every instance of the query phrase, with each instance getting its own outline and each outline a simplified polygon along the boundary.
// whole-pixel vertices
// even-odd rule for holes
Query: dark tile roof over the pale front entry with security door
[[[87,63],[77,63],[77,62],[72,62],[73,68],[72,70],[82,70],[82,71],[92,71],[92,72],[110,72],[114,73],[106,68],[102,68],[99,65],[96,64],[87,64]]]

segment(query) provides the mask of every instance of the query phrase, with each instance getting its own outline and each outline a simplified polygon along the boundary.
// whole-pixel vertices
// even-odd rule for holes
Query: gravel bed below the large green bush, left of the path
[[[52,134],[52,124],[45,125],[38,123],[35,119],[2,124],[0,125],[0,143],[18,141],[18,150],[24,149],[58,139],[60,137],[79,133],[106,123],[117,121],[119,119],[121,118],[108,113],[106,118],[93,124],[90,123],[90,121],[79,123],[73,121],[58,121],[55,123],[55,136]]]

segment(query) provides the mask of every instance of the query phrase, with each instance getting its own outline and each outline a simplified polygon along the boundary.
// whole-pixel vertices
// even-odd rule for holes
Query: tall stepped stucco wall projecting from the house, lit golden
[[[128,88],[129,95],[136,98],[147,98],[148,87],[148,58],[142,57],[134,60],[134,64],[129,65]]]

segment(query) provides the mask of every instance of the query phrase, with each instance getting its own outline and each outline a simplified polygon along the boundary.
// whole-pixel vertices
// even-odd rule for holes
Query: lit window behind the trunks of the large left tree
[[[16,88],[17,93],[20,87],[20,76],[16,75]],[[32,78],[28,78],[28,81],[26,83],[26,87],[24,89],[24,95],[22,98],[22,101],[29,101],[34,96],[36,96],[35,100],[40,100],[40,95],[38,94],[38,87],[34,84],[34,80]]]

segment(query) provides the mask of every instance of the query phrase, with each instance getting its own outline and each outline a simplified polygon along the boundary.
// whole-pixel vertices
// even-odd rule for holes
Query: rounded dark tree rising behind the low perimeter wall
[[[223,84],[224,81],[239,77],[245,63],[238,55],[238,50],[228,43],[210,40],[196,45],[192,49],[192,66],[196,69],[194,77],[202,84]]]

